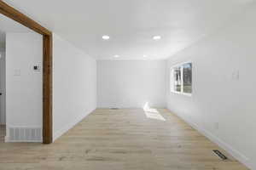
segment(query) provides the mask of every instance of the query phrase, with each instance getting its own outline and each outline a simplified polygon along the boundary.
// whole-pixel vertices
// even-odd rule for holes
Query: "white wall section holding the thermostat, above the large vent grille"
[[[6,34],[7,127],[42,127],[43,61],[42,36],[36,33]]]

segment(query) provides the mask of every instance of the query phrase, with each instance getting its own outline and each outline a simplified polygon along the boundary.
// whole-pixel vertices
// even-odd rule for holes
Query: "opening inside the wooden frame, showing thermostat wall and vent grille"
[[[43,36],[0,14],[0,142],[43,142]]]

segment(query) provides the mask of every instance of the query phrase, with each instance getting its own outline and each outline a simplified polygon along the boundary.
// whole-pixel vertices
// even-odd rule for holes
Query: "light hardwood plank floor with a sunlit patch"
[[[165,109],[97,109],[54,144],[0,144],[1,170],[245,170]],[[224,151],[224,150],[222,150]]]

